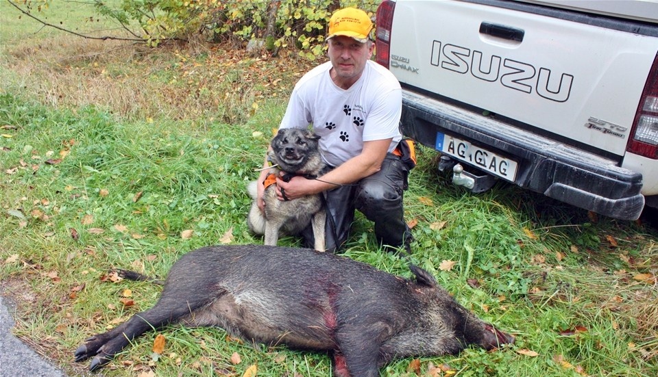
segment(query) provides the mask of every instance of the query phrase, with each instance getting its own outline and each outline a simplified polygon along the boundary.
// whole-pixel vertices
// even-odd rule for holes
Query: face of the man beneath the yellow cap
[[[373,49],[372,42],[361,43],[346,36],[331,38],[328,55],[337,78],[350,85],[358,80]]]

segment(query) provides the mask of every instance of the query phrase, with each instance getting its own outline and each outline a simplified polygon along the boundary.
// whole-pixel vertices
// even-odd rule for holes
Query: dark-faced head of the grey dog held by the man
[[[310,157],[318,155],[320,137],[306,129],[280,129],[272,139],[272,162],[285,172],[300,172]]]

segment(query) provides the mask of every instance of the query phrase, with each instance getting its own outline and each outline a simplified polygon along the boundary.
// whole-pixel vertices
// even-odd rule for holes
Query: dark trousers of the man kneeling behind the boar
[[[382,168],[356,182],[324,192],[327,209],[326,248],[337,252],[345,244],[354,222],[354,209],[374,222],[375,236],[385,246],[408,246],[409,226],[404,222],[402,198],[407,187],[409,170],[400,157],[389,153]],[[304,246],[313,248],[313,229],[302,231]],[[309,246],[310,245],[310,246]]]

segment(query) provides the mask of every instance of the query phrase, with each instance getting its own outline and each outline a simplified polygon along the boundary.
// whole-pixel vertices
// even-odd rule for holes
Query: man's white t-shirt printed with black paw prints
[[[331,62],[321,64],[293,89],[280,128],[313,125],[320,151],[331,166],[361,153],[363,142],[393,138],[389,152],[402,140],[402,90],[393,74],[368,60],[363,74],[348,90],[332,81]]]

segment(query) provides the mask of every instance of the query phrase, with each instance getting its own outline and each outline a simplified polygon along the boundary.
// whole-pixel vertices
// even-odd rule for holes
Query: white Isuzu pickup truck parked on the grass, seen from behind
[[[402,129],[454,183],[622,220],[658,207],[656,0],[384,0],[376,25]]]

